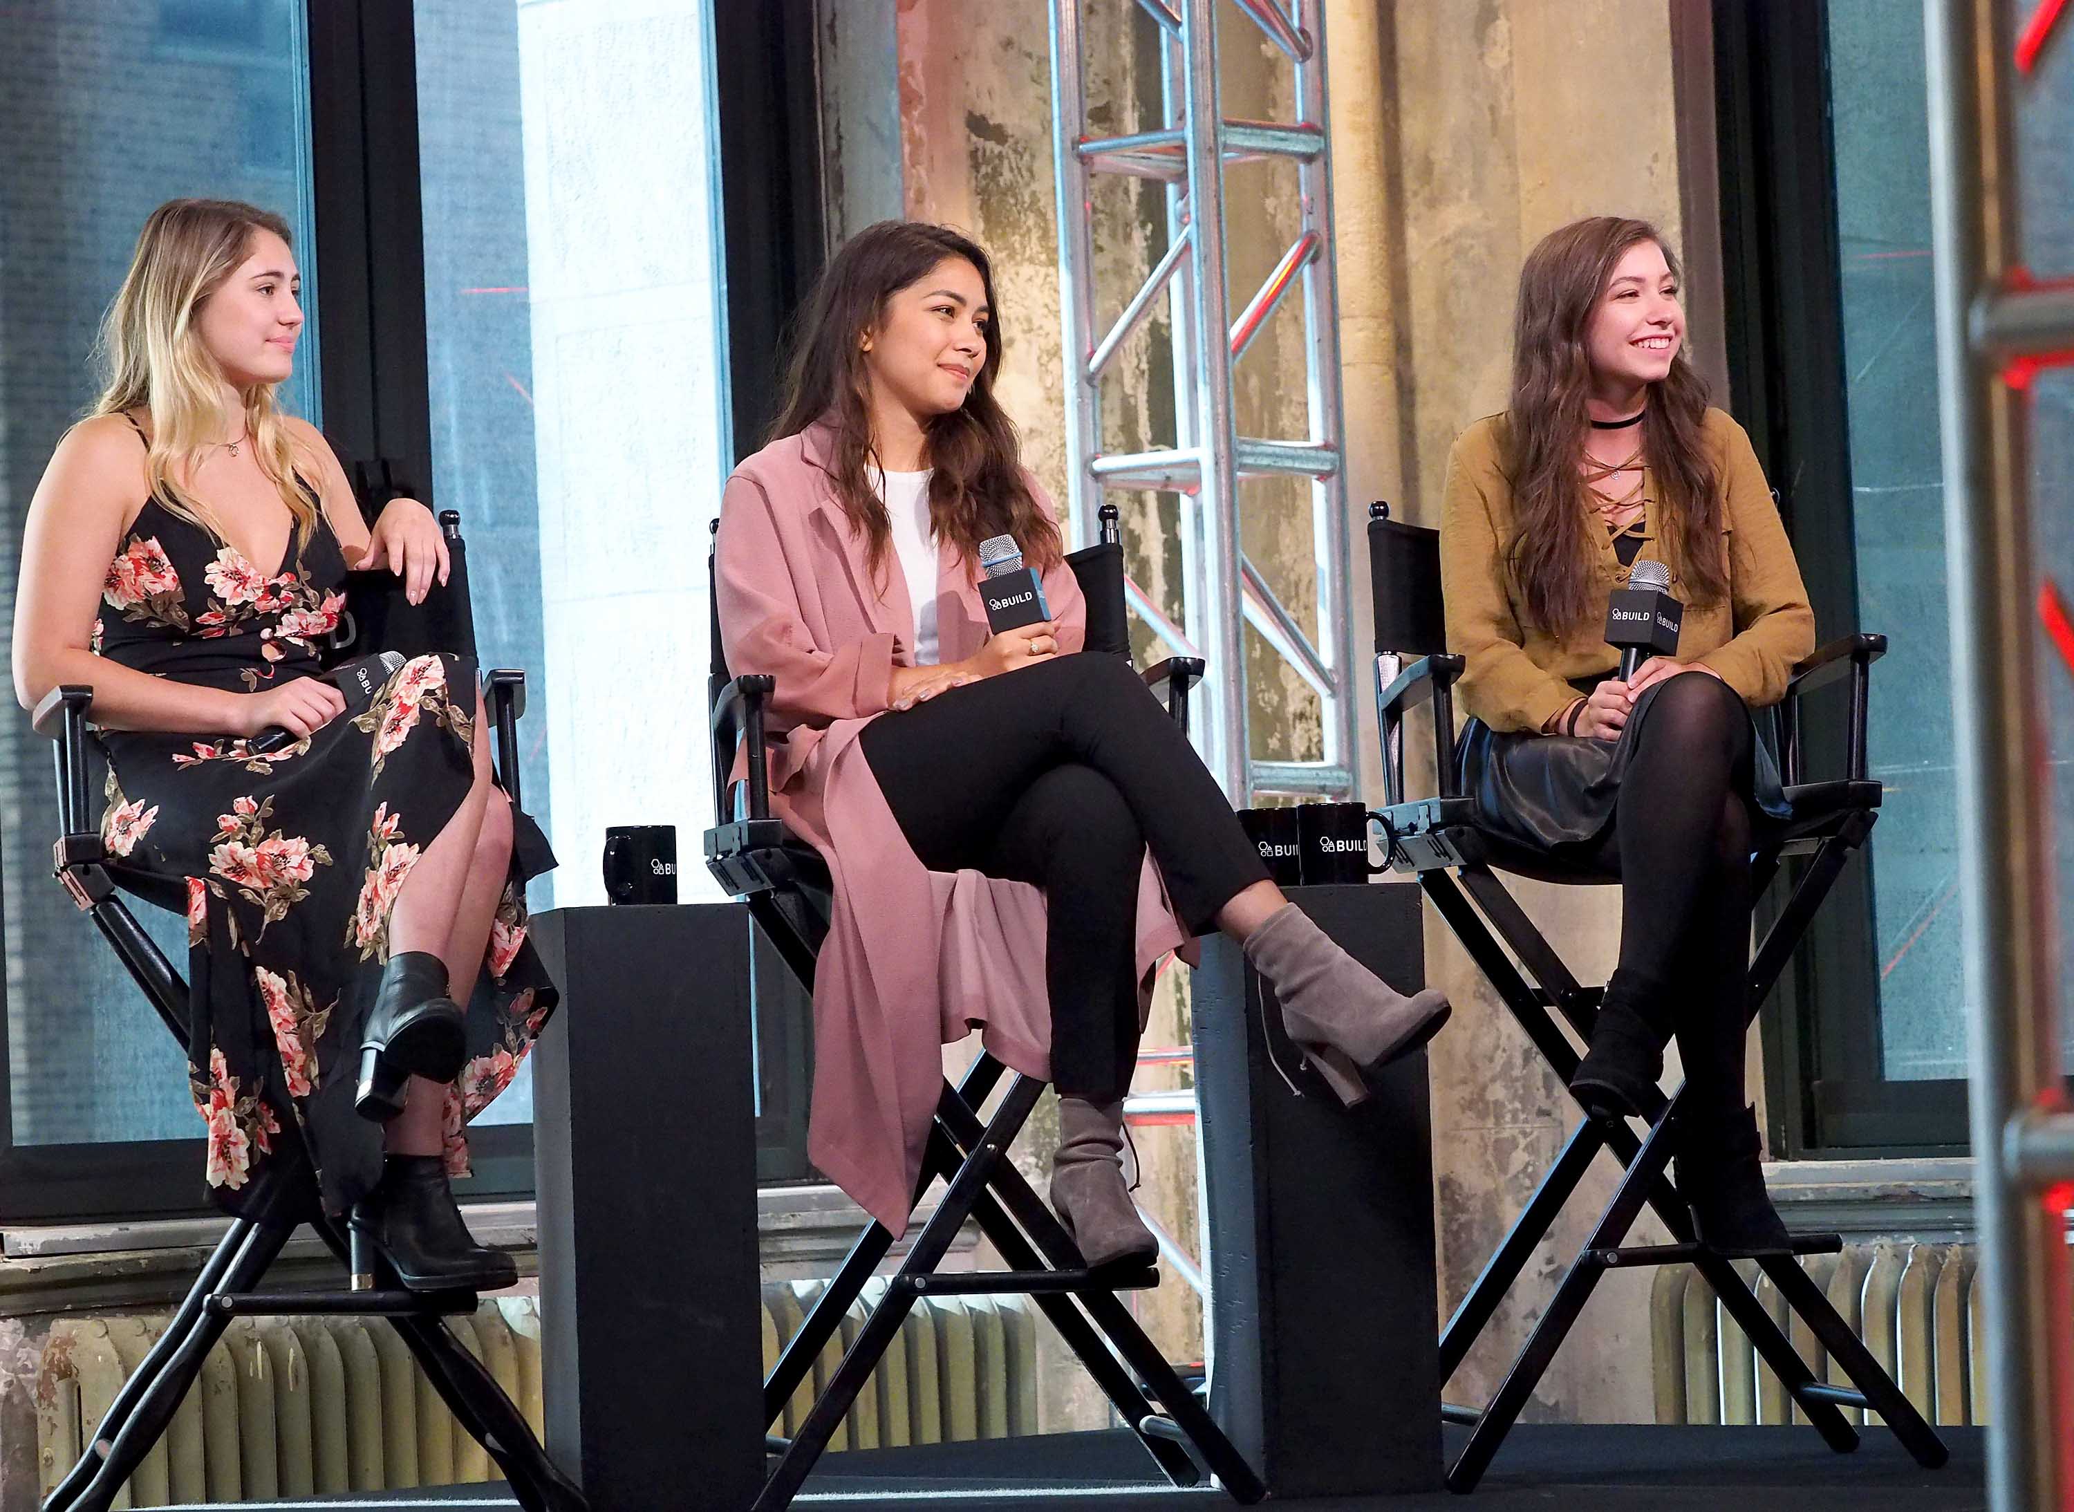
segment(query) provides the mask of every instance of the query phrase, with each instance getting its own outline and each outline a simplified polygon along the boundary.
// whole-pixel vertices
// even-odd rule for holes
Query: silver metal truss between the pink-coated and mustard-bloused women
[[[1122,4],[1122,0],[1105,0]],[[1300,120],[1226,120],[1217,87],[1217,8],[1232,4],[1288,56]],[[1066,448],[1074,533],[1095,539],[1097,489],[1182,496],[1182,624],[1145,593],[1130,606],[1168,647],[1209,662],[1195,732],[1234,805],[1255,792],[1344,796],[1354,788],[1356,705],[1348,620],[1346,479],[1340,446],[1340,336],[1334,288],[1332,153],[1325,141],[1321,0],[1139,0],[1159,25],[1159,131],[1089,133],[1083,77],[1085,0],[1052,0],[1052,118],[1058,170],[1060,295],[1066,321]],[[1224,168],[1286,160],[1296,166],[1302,224],[1296,241],[1234,315],[1226,276]],[[1108,330],[1095,321],[1095,174],[1168,187],[1168,249]],[[1267,319],[1300,290],[1307,328],[1309,436],[1238,436],[1232,369]],[[1101,380],[1116,353],[1166,295],[1172,319],[1172,448],[1110,452],[1101,444]],[[1211,332],[1205,340],[1203,332]],[[1305,626],[1246,560],[1240,479],[1309,477],[1317,562],[1317,618]],[[1246,736],[1244,624],[1317,693],[1323,759],[1255,761]]]

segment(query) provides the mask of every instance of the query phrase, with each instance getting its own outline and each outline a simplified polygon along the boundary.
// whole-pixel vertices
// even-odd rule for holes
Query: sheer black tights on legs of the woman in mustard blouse
[[[1657,689],[1595,863],[1620,873],[1620,973],[1678,1035],[1686,1105],[1742,1112],[1750,967],[1750,716],[1719,678]]]

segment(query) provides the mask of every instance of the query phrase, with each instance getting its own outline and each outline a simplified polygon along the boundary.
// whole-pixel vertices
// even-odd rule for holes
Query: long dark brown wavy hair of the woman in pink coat
[[[979,554],[989,535],[1012,535],[1022,560],[1035,568],[1056,564],[1064,552],[1058,527],[1037,506],[1018,460],[1016,425],[993,398],[1002,367],[1002,309],[993,299],[993,265],[969,236],[948,226],[881,220],[865,226],[834,255],[815,284],[792,338],[786,400],[772,440],[807,429],[817,419],[834,425],[830,471],[850,529],[867,541],[873,575],[886,564],[892,525],[871,485],[877,454],[871,446],[871,375],[861,336],[886,319],[886,301],[921,282],[946,257],[962,257],[987,290],[987,357],[973,377],[964,404],[927,425],[929,521],[935,533],[966,556]]]

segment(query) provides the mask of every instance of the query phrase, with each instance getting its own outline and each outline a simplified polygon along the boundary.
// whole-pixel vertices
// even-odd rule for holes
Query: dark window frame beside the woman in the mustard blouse
[[[1728,371],[1779,498],[1817,641],[1858,628],[1835,141],[1825,0],[1713,0]],[[1873,670],[1879,697],[1879,670]],[[1848,699],[1802,713],[1809,772],[1842,774]],[[1786,1157],[1964,1155],[1966,1083],[1879,1074],[1879,828],[1838,879],[1763,1014],[1771,1147]],[[1784,884],[1759,908],[1767,927]]]

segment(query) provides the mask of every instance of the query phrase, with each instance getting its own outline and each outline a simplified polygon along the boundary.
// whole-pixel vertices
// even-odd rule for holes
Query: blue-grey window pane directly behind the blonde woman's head
[[[0,637],[12,622],[21,523],[64,427],[95,392],[95,326],[153,205],[220,195],[278,209],[311,257],[309,48],[297,0],[127,0],[6,23],[0,48]],[[315,303],[315,301],[313,301]],[[288,402],[317,417],[311,321]],[[0,722],[0,888],[6,1020],[0,1149],[6,1209],[58,1191],[64,1147],[135,1147],[197,1132],[178,1047],[114,956],[50,877],[56,799],[50,747],[25,718]],[[141,908],[141,915],[153,915]],[[156,931],[178,958],[180,921]],[[178,935],[178,937],[176,937]],[[197,1145],[199,1149],[199,1145]],[[129,1164],[116,1149],[108,1159]],[[137,1166],[141,1170],[141,1166]],[[189,1161],[199,1172],[199,1157]],[[199,1182],[189,1182],[199,1199]],[[19,1201],[17,1201],[19,1199]]]

